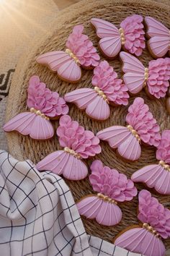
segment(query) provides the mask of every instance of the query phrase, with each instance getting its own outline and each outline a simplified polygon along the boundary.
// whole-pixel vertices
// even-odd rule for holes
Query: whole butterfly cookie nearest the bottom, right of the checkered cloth
[[[97,194],[87,195],[76,203],[79,213],[99,224],[115,226],[122,218],[118,203],[133,200],[138,191],[125,174],[103,166],[99,160],[90,168],[89,181]]]

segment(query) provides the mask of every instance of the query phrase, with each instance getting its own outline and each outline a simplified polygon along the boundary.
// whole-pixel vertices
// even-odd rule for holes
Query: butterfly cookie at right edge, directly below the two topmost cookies
[[[169,88],[170,58],[152,60],[148,67],[144,67],[142,62],[124,51],[120,53],[120,58],[125,73],[123,80],[130,93],[136,94],[145,88],[155,98],[165,97]]]

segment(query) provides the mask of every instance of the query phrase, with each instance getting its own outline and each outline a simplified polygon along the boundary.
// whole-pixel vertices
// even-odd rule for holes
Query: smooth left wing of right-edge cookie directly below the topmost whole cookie
[[[123,62],[122,71],[125,73],[123,76],[125,85],[130,93],[139,93],[145,82],[145,67],[137,58],[124,51],[121,51],[120,58]]]

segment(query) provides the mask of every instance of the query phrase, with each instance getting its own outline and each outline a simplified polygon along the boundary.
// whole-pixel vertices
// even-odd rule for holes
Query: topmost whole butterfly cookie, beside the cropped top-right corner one
[[[97,30],[99,48],[104,56],[114,59],[121,48],[130,54],[140,56],[146,47],[145,32],[143,30],[143,17],[134,14],[120,23],[120,29],[106,20],[92,18],[91,24]]]

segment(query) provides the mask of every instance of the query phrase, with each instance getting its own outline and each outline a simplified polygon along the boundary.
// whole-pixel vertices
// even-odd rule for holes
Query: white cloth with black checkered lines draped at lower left
[[[68,186],[0,150],[0,255],[137,256],[88,236]]]

